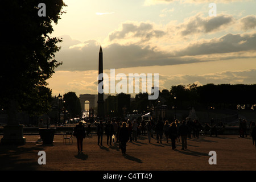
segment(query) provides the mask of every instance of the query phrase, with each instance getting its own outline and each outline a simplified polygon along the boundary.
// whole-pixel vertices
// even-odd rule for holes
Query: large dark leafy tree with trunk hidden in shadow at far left
[[[52,23],[57,24],[66,5],[62,0],[43,2],[46,16],[38,15],[38,1],[1,1],[0,105],[10,114],[42,111],[51,98],[46,80],[62,64],[54,59],[61,40],[50,35]]]

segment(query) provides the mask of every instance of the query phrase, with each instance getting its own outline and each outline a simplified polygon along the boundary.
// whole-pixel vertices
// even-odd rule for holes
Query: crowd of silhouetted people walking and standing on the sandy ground
[[[240,136],[246,135],[246,130],[242,131],[242,123],[240,129]],[[80,133],[84,133],[85,129],[81,129],[82,122],[75,127],[75,131],[79,129]],[[255,128],[255,129],[254,129]],[[97,137],[98,137],[98,145],[102,146],[102,139],[104,133],[106,134],[106,142],[108,145],[112,146],[112,143],[119,143],[119,148],[121,148],[122,154],[126,155],[126,143],[127,142],[136,142],[139,135],[146,135],[148,139],[148,143],[151,143],[151,138],[154,138],[154,134],[156,135],[157,143],[162,144],[163,137],[166,138],[166,142],[168,143],[171,140],[172,149],[175,150],[176,143],[180,142],[182,148],[181,150],[187,149],[187,138],[196,138],[199,139],[200,131],[204,130],[204,134],[209,131],[210,136],[212,134],[216,134],[217,137],[217,129],[216,126],[210,127],[208,123],[205,123],[203,127],[201,123],[197,120],[188,118],[187,121],[179,121],[178,119],[174,119],[174,122],[169,121],[160,121],[154,122],[151,121],[137,121],[137,120],[127,120],[127,121],[115,121],[115,119],[108,120],[105,125],[100,121],[97,125]],[[252,122],[250,126],[250,136],[253,137],[253,144],[255,144],[256,135],[256,127],[255,123]],[[77,149],[82,151],[82,138],[85,138],[84,134],[76,134],[77,137]],[[256,147],[256,144],[255,144]]]

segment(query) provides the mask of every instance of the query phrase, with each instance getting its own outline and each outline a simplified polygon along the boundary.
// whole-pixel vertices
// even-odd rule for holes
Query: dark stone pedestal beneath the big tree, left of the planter
[[[23,137],[23,125],[5,125],[3,126],[3,144],[18,144],[23,145],[26,143],[26,138]]]

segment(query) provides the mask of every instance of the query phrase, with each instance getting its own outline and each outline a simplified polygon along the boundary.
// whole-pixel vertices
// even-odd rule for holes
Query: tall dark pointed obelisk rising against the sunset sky
[[[103,53],[102,48],[100,47],[100,52],[98,53],[98,75],[103,73]],[[103,89],[103,77],[102,80],[98,80],[98,85],[102,82],[102,89]],[[100,119],[104,118],[104,93],[98,92],[98,114],[97,117]]]

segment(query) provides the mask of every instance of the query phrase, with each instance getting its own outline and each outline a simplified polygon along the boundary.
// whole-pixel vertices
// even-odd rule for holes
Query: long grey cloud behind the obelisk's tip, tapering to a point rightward
[[[63,42],[64,41],[65,39]],[[96,40],[88,40],[83,44],[86,44],[86,46],[72,46],[72,48],[61,49],[57,52],[55,58],[58,61],[63,61],[63,65],[60,65],[56,70],[97,70],[100,44]],[[121,45],[113,43],[106,47],[102,46],[102,50],[104,56],[104,69],[174,65],[195,63],[197,61],[194,57],[181,59],[180,57],[174,57],[171,53],[159,51],[155,47],[142,46],[139,44]]]

